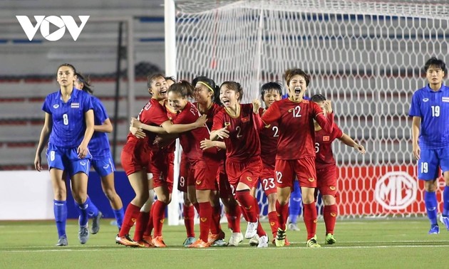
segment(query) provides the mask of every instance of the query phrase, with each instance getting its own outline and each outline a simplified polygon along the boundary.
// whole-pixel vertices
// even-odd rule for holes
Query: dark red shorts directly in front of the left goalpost
[[[153,188],[166,186],[169,193],[173,190],[173,152],[152,152],[150,157],[150,173],[153,174]]]

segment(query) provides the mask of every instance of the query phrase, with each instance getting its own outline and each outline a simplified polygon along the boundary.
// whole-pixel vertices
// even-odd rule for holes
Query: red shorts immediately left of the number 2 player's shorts
[[[207,160],[191,161],[193,170],[193,179],[195,180],[195,189],[198,190],[217,190],[218,164]]]

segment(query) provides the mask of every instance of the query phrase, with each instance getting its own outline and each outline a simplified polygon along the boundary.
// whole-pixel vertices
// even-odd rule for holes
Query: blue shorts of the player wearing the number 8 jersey
[[[66,171],[68,176],[73,176],[79,172],[89,175],[91,169],[91,153],[88,153],[83,159],[78,158],[76,147],[63,148],[48,143],[46,152],[48,169],[56,168]]]

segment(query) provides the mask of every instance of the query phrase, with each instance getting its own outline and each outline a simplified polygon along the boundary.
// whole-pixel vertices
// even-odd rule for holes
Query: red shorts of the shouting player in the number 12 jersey
[[[299,181],[299,186],[316,188],[315,157],[302,159],[277,159],[276,186],[279,188],[293,188],[294,176]]]

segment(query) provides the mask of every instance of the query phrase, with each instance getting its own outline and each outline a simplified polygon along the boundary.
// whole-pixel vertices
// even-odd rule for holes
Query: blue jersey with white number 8
[[[84,113],[91,109],[91,96],[76,88],[73,88],[67,102],[63,102],[61,90],[47,95],[42,110],[50,114],[53,120],[48,143],[67,149],[78,147],[86,132]]]

